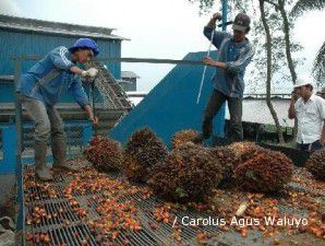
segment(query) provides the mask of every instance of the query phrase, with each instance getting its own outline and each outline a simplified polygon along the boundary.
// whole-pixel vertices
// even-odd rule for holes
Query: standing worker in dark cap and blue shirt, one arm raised
[[[244,91],[244,72],[254,55],[252,44],[245,37],[250,31],[250,17],[239,13],[232,25],[233,34],[215,32],[216,21],[221,20],[220,13],[215,13],[204,27],[204,35],[218,49],[217,60],[207,57],[203,62],[216,67],[213,78],[214,90],[208,98],[202,124],[202,133],[194,142],[202,142],[208,139],[213,131],[213,118],[227,101],[230,114],[229,139],[231,142],[242,141],[242,97]]]

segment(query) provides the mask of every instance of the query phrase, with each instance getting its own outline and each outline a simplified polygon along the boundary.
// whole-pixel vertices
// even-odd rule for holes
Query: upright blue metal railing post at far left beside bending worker
[[[14,85],[17,86],[21,78],[22,65],[20,59],[14,60]],[[16,155],[15,155],[15,176],[16,176],[16,245],[25,245],[25,211],[24,211],[24,189],[23,189],[23,165],[22,165],[22,147],[23,147],[23,117],[22,103],[15,94],[15,130],[16,130]]]

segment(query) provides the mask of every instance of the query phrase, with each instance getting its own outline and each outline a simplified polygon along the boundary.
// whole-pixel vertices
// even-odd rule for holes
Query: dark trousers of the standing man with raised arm
[[[225,102],[228,102],[230,114],[229,139],[231,142],[242,141],[242,99],[238,97],[229,97],[217,90],[213,90],[205,107],[202,133],[205,139],[209,138],[213,132],[213,119],[221,108]]]

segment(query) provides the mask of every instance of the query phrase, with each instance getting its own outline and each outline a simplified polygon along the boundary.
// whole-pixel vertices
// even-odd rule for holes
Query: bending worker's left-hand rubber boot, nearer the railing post
[[[47,144],[44,142],[35,142],[35,174],[43,181],[53,179],[52,173],[46,164]]]

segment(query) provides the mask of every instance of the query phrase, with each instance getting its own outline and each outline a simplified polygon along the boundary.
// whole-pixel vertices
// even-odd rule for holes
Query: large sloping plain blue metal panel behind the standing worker
[[[216,57],[216,52],[212,57]],[[184,59],[201,60],[206,52],[191,52]],[[168,147],[176,131],[195,129],[201,131],[201,121],[207,98],[213,90],[210,79],[214,69],[208,68],[200,104],[196,96],[203,67],[176,66],[151,93],[127,115],[109,134],[122,142],[142,127],[149,127]],[[214,134],[224,137],[225,105],[215,118]]]

